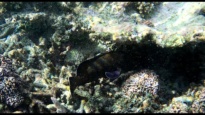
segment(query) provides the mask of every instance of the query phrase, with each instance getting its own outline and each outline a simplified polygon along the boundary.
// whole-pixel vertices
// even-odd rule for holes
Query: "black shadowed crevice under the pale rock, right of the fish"
[[[121,45],[117,52],[125,54],[120,65],[124,72],[154,70],[159,75],[159,87],[180,82],[178,88],[172,87],[170,90],[176,90],[177,95],[182,95],[188,90],[190,83],[200,83],[203,79],[204,49],[205,41],[202,40],[188,42],[181,47],[162,48],[152,41],[152,35],[148,35],[141,43]],[[124,80],[118,80],[118,84],[122,81]],[[170,100],[174,96],[176,95],[170,94],[167,98]]]

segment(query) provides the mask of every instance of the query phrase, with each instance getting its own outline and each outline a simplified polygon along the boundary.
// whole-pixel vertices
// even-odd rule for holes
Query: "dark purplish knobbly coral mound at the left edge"
[[[0,55],[0,101],[17,107],[24,98],[22,96],[23,82],[12,67],[12,61]]]

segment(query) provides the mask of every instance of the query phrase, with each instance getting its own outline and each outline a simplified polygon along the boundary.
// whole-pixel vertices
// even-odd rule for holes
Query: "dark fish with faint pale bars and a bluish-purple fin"
[[[116,68],[122,66],[123,58],[123,53],[112,51],[82,62],[77,68],[77,76],[69,78],[71,94],[77,86],[90,81],[97,82],[99,77],[119,77],[120,71]]]

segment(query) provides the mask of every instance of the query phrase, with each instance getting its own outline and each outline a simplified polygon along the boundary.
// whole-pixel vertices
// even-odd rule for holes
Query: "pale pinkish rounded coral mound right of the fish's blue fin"
[[[123,84],[123,92],[130,96],[131,94],[145,95],[150,93],[153,96],[158,92],[157,75],[150,70],[143,70],[131,75]]]

